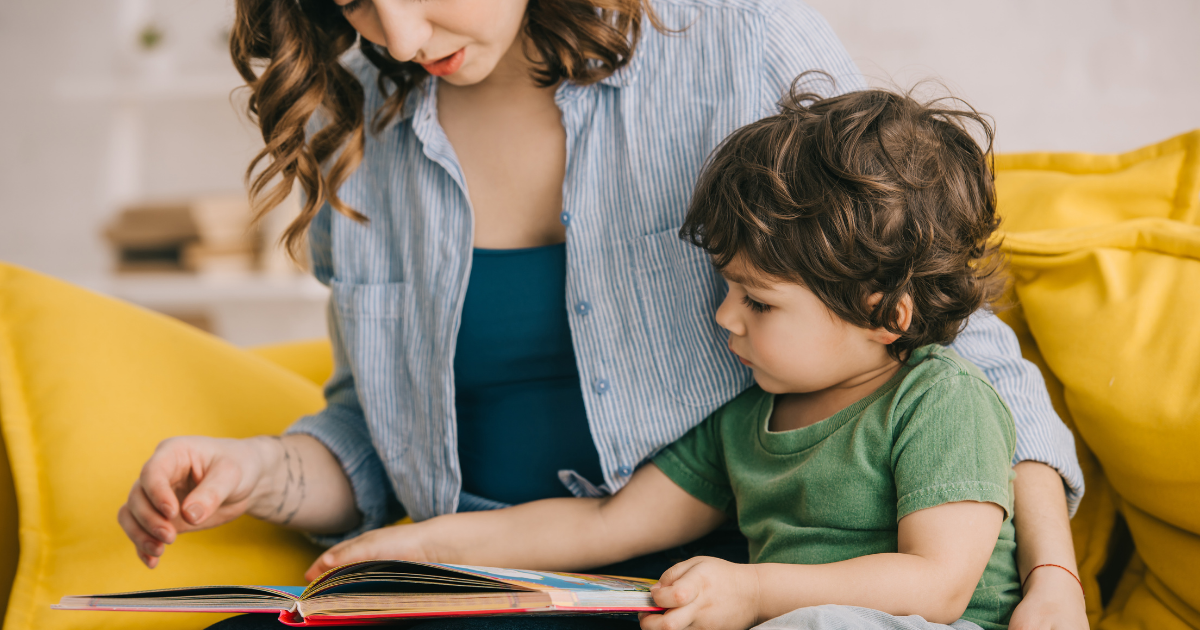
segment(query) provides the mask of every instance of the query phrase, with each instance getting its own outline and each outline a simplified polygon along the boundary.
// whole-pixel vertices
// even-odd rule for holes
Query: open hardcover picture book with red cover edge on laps
[[[654,580],[458,564],[366,560],[307,587],[192,587],[68,595],[67,611],[278,612],[294,626],[370,625],[397,618],[656,612]]]

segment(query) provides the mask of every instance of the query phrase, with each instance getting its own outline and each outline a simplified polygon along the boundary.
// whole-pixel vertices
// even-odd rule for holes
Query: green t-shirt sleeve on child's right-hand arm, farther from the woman
[[[896,521],[960,500],[1013,514],[1013,416],[996,390],[968,374],[943,378],[904,414],[892,450]]]

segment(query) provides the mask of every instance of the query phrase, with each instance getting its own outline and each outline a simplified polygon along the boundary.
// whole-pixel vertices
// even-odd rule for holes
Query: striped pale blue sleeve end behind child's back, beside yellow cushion
[[[1042,462],[1058,470],[1072,516],[1084,497],[1084,472],[1075,455],[1075,438],[1050,403],[1045,380],[1037,366],[1021,358],[1016,334],[995,314],[980,310],[950,344],[964,359],[983,371],[1013,410],[1016,454],[1013,463]]]

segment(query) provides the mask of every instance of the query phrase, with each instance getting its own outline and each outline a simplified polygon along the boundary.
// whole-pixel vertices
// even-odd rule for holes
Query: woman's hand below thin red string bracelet
[[[1043,566],[1030,574],[1009,630],[1087,630],[1084,590],[1067,571]]]

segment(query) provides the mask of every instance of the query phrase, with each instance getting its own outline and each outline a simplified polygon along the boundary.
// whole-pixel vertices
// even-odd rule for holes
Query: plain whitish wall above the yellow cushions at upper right
[[[809,0],[871,83],[940,78],[1001,151],[1121,152],[1200,127],[1196,0]]]

